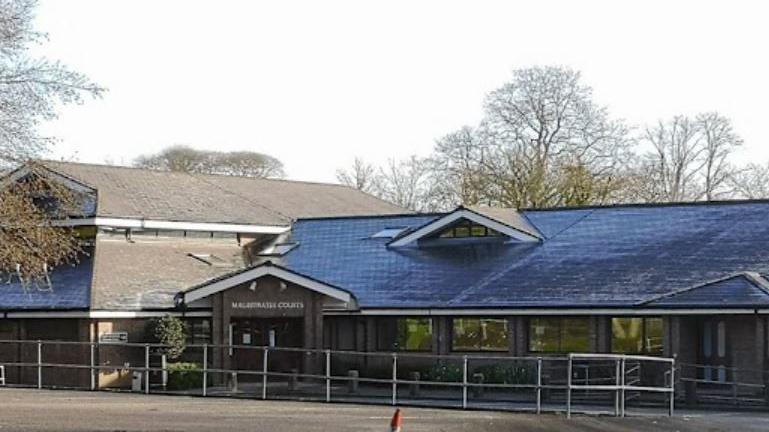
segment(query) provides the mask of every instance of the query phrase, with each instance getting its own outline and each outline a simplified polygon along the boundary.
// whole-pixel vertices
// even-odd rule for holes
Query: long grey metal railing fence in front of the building
[[[673,414],[673,359],[607,354],[511,357],[0,340],[5,385],[624,416]],[[228,366],[223,366],[227,364]],[[662,397],[660,397],[662,396]]]

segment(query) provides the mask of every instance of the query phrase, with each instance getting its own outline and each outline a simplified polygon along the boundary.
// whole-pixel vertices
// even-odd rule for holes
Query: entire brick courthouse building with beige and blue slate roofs
[[[338,186],[49,166],[98,190],[95,251],[51,292],[0,287],[12,337],[141,340],[173,313],[223,345],[640,353],[709,381],[767,369],[769,201],[408,214]]]

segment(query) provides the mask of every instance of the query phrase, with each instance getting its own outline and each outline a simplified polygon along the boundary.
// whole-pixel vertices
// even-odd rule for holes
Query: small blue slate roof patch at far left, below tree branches
[[[90,306],[93,259],[81,256],[75,265],[62,265],[50,272],[51,292],[40,291],[32,284],[25,293],[17,277],[8,283],[7,274],[0,280],[0,310],[74,310]]]

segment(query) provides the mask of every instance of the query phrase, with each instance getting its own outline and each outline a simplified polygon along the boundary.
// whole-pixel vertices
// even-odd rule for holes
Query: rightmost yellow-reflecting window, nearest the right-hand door
[[[662,355],[662,318],[612,318],[611,352]]]

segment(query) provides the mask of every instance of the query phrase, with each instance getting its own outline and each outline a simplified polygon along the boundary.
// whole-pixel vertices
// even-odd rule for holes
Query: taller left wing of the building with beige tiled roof
[[[127,333],[129,341],[144,341],[148,319],[181,315],[174,309],[179,291],[251,265],[298,218],[404,212],[340,185],[51,161],[40,168],[83,195],[84,215],[62,223],[77,228],[86,254],[53,269],[48,281],[25,286],[3,275],[0,340],[97,341]],[[22,167],[7,180],[28,175]],[[208,337],[209,317],[186,319]],[[68,348],[52,355],[87,360]],[[34,357],[32,347],[15,354]],[[13,359],[0,355],[0,362]]]

